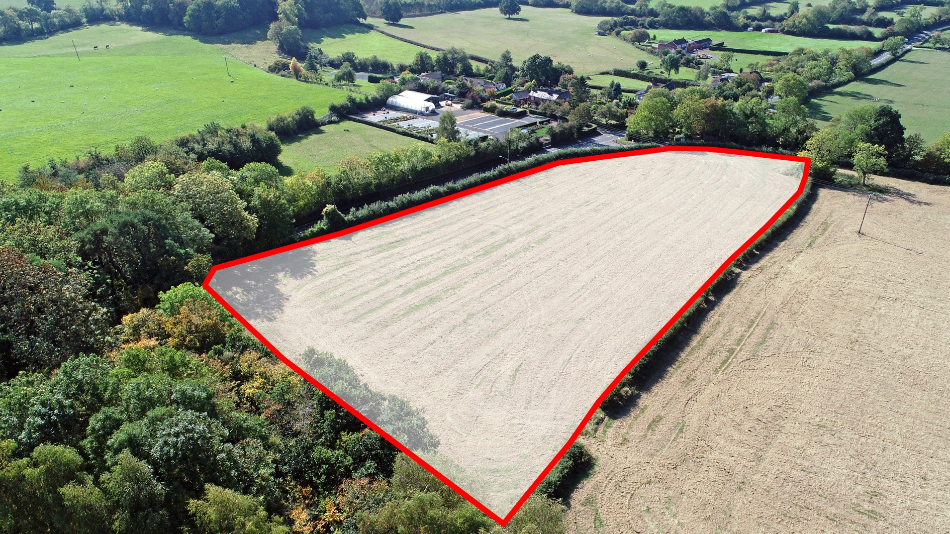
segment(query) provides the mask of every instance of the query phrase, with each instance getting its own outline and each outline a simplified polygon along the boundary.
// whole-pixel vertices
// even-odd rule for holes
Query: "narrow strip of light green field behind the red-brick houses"
[[[712,39],[712,43],[726,43],[726,47],[776,52],[790,52],[795,48],[876,48],[881,46],[881,44],[876,41],[817,39],[813,37],[796,37],[783,33],[762,33],[761,31],[651,29],[650,35],[652,36],[654,34],[656,34],[656,38],[660,40],[671,40],[680,37],[686,39],[709,37]]]

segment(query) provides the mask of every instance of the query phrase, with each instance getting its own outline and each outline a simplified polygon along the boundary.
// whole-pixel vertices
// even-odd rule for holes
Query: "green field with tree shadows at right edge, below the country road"
[[[948,84],[950,54],[911,50],[870,76],[811,99],[808,108],[813,119],[826,123],[857,105],[892,105],[907,133],[920,133],[929,144],[950,130],[950,99],[940,89]]]

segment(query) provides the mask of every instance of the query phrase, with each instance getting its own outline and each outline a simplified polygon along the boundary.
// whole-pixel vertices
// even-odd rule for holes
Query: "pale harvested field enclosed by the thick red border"
[[[676,149],[551,166],[225,264],[210,288],[295,365],[505,516],[618,373],[788,205],[804,170]],[[315,365],[309,347],[355,374]],[[427,429],[410,410],[368,400],[360,380],[421,410]]]

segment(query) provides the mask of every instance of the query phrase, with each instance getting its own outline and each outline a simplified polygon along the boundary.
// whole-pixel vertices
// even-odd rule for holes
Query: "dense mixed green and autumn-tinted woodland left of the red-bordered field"
[[[208,124],[21,169],[0,188],[0,530],[561,531],[560,478],[499,527],[196,285],[314,210],[312,234],[351,224],[328,203],[501,150],[447,138],[281,177],[276,134]]]

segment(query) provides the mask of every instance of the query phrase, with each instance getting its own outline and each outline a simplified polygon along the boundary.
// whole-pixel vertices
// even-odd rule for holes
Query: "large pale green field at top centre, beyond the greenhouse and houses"
[[[509,49],[518,65],[537,52],[571,65],[580,74],[596,74],[615,67],[634,69],[640,59],[655,62],[651,70],[659,69],[656,56],[616,37],[597,35],[597,24],[603,19],[570,10],[522,6],[521,14],[510,20],[497,8],[490,8],[412,17],[396,25],[381,19],[371,19],[371,23],[418,43],[439,48],[461,47],[491,59]],[[693,73],[680,71],[674,77],[692,79]]]

